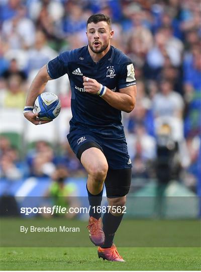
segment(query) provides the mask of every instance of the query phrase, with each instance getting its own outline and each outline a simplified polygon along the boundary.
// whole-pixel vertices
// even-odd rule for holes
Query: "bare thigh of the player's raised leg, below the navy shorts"
[[[90,147],[83,151],[80,158],[81,164],[88,174],[96,174],[102,172],[107,174],[108,162],[102,150],[96,147]]]

